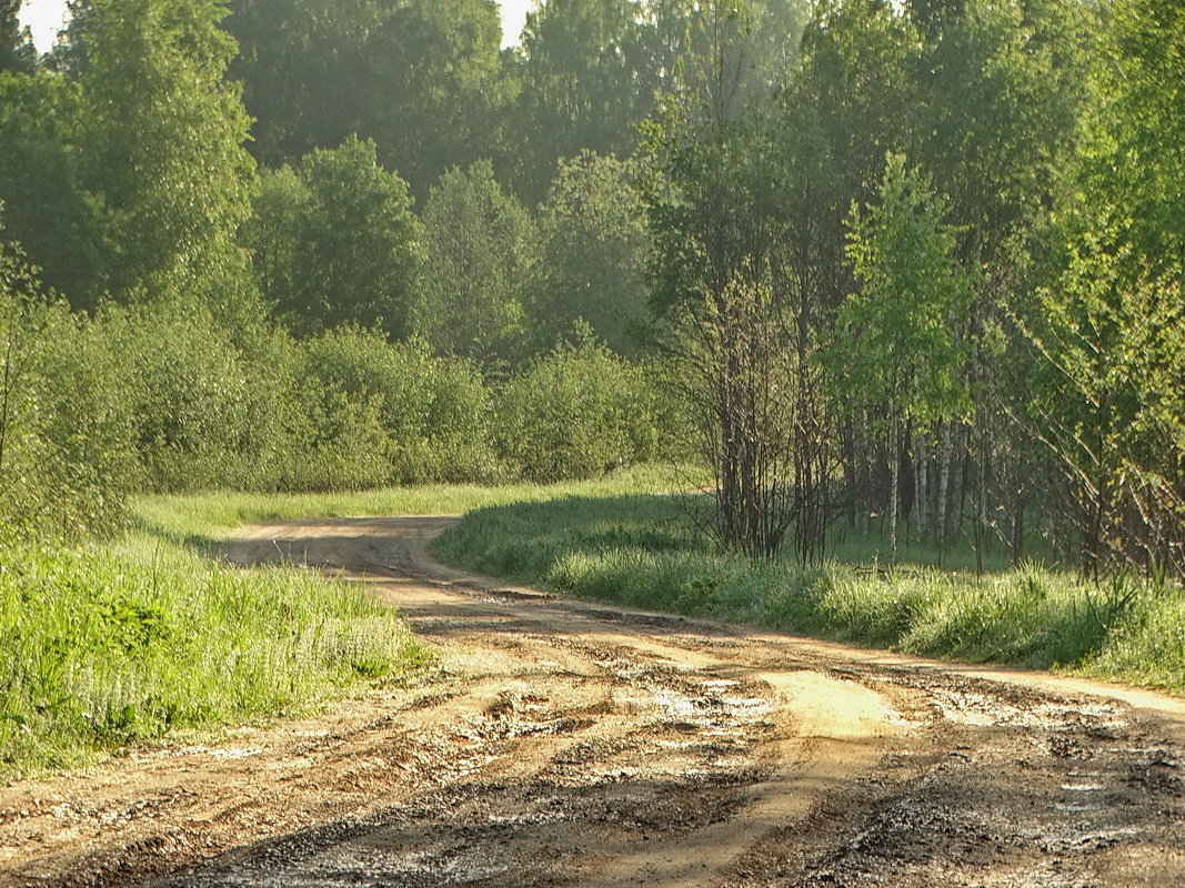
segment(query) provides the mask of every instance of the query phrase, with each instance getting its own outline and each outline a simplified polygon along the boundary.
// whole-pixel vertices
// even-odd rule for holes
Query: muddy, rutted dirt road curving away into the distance
[[[229,548],[373,585],[443,670],[0,789],[0,884],[1185,886],[1185,706],[556,600],[447,519]]]

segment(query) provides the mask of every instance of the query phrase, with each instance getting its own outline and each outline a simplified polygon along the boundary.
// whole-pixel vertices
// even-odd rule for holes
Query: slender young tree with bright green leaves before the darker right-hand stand
[[[848,404],[888,429],[890,559],[897,558],[899,466],[905,435],[967,407],[955,332],[971,304],[955,234],[929,180],[890,154],[879,204],[850,220],[848,257],[860,291],[840,308],[831,359]]]

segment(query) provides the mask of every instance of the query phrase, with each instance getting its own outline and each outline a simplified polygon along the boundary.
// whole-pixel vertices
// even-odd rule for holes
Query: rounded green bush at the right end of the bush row
[[[642,372],[591,340],[532,361],[502,387],[497,411],[501,451],[538,482],[646,462],[661,433]]]

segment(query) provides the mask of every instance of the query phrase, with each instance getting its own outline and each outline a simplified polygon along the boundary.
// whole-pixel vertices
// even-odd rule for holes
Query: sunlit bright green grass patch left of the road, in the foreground
[[[0,552],[0,771],[287,715],[427,662],[398,613],[294,568],[236,571],[143,534]]]

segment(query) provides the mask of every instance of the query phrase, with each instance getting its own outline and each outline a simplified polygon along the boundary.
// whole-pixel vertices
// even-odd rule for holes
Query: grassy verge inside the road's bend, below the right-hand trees
[[[582,598],[889,648],[1185,690],[1185,599],[1083,585],[1037,565],[979,577],[924,562],[878,571],[875,540],[820,568],[712,552],[670,497],[568,498],[468,515],[436,554]],[[955,560],[959,564],[959,560]]]

